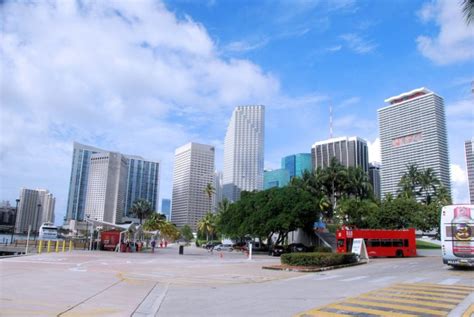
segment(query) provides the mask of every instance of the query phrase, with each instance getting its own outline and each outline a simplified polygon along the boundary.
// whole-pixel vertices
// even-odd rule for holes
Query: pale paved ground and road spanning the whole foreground
[[[0,260],[1,316],[462,316],[474,272],[432,256],[321,273],[262,270],[279,258],[177,246]],[[398,315],[397,315],[398,314]]]

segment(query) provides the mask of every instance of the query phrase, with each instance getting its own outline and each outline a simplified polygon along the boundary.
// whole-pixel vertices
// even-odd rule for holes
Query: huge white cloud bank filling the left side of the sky
[[[214,142],[234,106],[279,96],[271,74],[221,58],[201,24],[159,2],[7,2],[0,11],[0,195],[48,188],[57,221],[74,140],[161,159],[166,197],[177,146]]]

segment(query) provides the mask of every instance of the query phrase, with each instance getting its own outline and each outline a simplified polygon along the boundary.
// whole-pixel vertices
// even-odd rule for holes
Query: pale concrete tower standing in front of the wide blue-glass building
[[[127,186],[127,158],[120,153],[91,155],[85,215],[91,219],[120,223]]]

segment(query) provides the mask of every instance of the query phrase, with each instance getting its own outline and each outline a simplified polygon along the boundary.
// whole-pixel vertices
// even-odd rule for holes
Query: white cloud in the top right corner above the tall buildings
[[[468,27],[461,6],[451,0],[426,3],[418,12],[420,19],[439,27],[436,36],[420,35],[418,50],[436,64],[445,65],[474,58],[474,29]]]

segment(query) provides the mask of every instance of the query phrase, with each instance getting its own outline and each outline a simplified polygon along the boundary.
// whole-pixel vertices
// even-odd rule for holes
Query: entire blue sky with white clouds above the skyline
[[[72,142],[162,162],[214,144],[237,105],[266,105],[265,167],[329,135],[380,160],[377,109],[427,87],[445,99],[455,202],[467,201],[474,26],[458,1],[3,2],[0,199],[47,188],[62,219]]]

